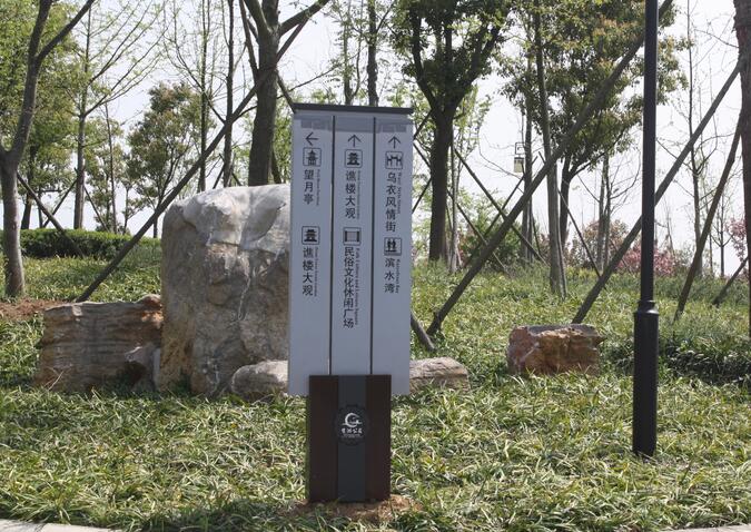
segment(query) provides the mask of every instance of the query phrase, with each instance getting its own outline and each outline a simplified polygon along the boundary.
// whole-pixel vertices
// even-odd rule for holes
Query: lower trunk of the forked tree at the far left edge
[[[3,158],[4,159],[4,158]],[[3,160],[0,166],[2,184],[2,250],[6,273],[6,296],[20,297],[26,290],[23,279],[23,258],[21,256],[21,234],[18,225],[18,162]]]

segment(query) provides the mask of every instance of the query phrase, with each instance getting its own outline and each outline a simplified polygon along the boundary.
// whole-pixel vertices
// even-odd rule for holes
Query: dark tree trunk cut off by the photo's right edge
[[[735,4],[735,36],[741,65],[741,146],[743,148],[743,203],[745,213],[747,249],[751,249],[751,0],[733,0]],[[749,283],[751,295],[751,283]],[[751,305],[749,306],[749,336],[751,336]]]

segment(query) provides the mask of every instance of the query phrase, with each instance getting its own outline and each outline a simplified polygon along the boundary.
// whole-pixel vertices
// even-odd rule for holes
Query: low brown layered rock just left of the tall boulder
[[[87,392],[113,382],[149,387],[161,345],[161,303],[71,303],[45,311],[34,384]]]

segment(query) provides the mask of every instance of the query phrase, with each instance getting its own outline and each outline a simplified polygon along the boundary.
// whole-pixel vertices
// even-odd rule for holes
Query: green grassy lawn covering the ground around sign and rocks
[[[128,259],[95,299],[158,292],[158,258]],[[73,296],[101,266],[30,259],[30,295]],[[425,319],[452,283],[428,268],[415,277],[414,306]],[[291,511],[305,491],[303,401],[34,390],[41,319],[0,322],[0,518],[206,531],[641,531],[751,522],[745,287],[715,311],[708,302],[720,284],[702,282],[673,326],[681,280],[660,280],[659,451],[644,462],[631,453],[633,277],[614,278],[589,319],[609,337],[601,376],[506,372],[511,328],[570,321],[593,279],[572,272],[570,282],[572,295],[560,302],[543,272],[476,279],[438,338],[439,355],[470,368],[472,390],[394,402],[393,489],[421,508],[375,526]],[[413,354],[428,356],[417,345]]]

